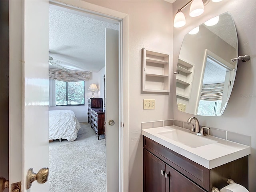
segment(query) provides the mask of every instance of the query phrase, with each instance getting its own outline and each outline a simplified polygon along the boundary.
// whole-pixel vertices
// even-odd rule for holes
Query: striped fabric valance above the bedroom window
[[[58,81],[65,81],[65,82],[88,81],[90,79],[90,72],[76,71],[76,70],[64,71],[61,69],[49,69],[49,78],[58,80]]]

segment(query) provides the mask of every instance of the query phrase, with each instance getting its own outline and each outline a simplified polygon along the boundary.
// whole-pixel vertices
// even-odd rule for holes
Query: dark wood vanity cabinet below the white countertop
[[[248,189],[248,156],[211,170],[143,137],[144,192],[210,192],[229,178]]]

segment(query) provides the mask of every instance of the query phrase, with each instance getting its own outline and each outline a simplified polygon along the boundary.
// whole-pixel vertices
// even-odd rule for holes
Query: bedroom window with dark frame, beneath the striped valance
[[[55,80],[55,105],[84,105],[84,81],[64,82]]]

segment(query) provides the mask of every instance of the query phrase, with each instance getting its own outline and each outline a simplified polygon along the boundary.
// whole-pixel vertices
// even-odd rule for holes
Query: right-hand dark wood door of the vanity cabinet
[[[206,192],[167,164],[166,173],[166,192]]]

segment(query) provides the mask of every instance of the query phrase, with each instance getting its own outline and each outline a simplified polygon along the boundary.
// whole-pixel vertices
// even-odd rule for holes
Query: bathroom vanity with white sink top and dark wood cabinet
[[[248,189],[249,146],[222,142],[218,138],[214,143],[199,141],[201,146],[186,146],[162,136],[161,133],[165,134],[173,129],[176,129],[176,126],[142,130],[144,192],[210,192],[214,186],[226,186],[229,178]],[[212,150],[215,146],[219,154]],[[221,151],[222,147],[227,150]],[[211,152],[216,153],[216,158],[209,156]]]

